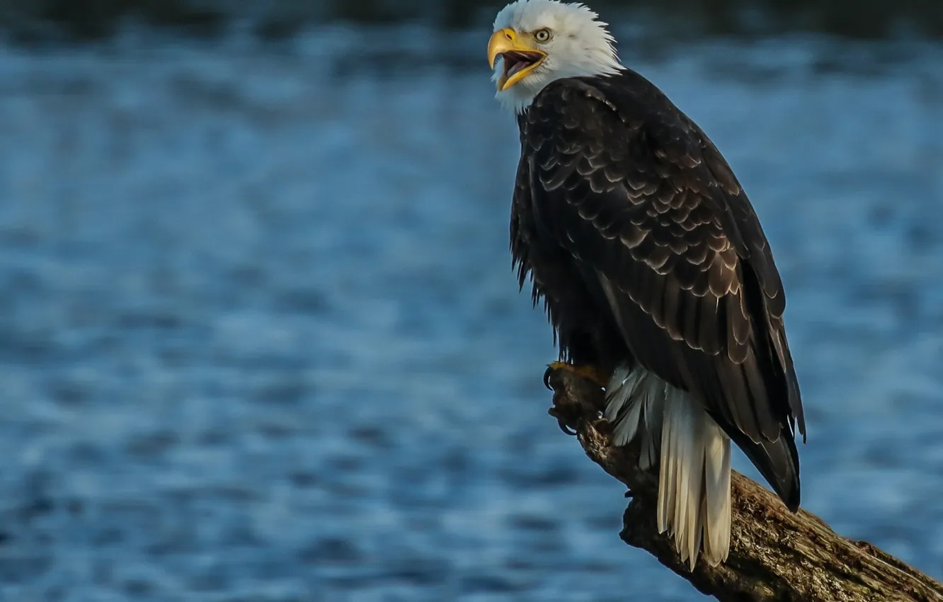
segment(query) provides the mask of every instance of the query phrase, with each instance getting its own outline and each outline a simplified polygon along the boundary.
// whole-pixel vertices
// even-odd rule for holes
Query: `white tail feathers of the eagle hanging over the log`
[[[606,392],[617,445],[641,435],[643,470],[660,453],[658,531],[693,570],[702,548],[717,566],[730,549],[730,439],[687,393],[636,367],[617,369]]]

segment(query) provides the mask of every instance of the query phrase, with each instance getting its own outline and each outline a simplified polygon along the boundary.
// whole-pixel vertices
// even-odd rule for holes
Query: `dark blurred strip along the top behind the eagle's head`
[[[2,0],[0,23],[23,40],[45,40],[63,34],[100,38],[127,19],[195,35],[215,35],[234,20],[248,20],[260,36],[281,38],[301,27],[338,22],[483,26],[504,4],[472,0]],[[591,6],[608,15],[644,16],[651,25],[676,33],[678,29],[714,35],[812,31],[863,39],[943,35],[943,8],[935,0],[602,0]]]

